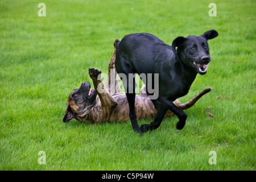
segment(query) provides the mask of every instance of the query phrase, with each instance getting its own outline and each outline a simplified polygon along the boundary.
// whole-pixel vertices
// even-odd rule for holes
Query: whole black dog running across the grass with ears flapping
[[[204,32],[200,36],[190,35],[187,38],[179,36],[172,42],[172,46],[169,46],[152,34],[138,33],[126,35],[119,42],[115,68],[123,81],[134,131],[143,133],[158,128],[168,109],[179,118],[176,128],[183,129],[187,114],[172,102],[188,93],[197,73],[204,75],[207,72],[210,61],[207,40],[216,36],[218,32],[215,30]],[[154,93],[148,92],[147,75],[152,73],[154,77],[155,73],[159,74],[159,97],[157,100],[151,100],[158,111],[154,122],[150,125],[138,126],[134,107],[135,80],[129,78],[130,73],[146,74],[146,79],[142,78],[142,81],[146,84],[148,96]],[[126,81],[123,80],[123,74],[126,76]],[[154,83],[152,84],[154,86]],[[129,92],[130,90],[132,92]]]

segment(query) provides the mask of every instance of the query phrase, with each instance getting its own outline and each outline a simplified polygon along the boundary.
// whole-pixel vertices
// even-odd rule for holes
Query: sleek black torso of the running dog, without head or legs
[[[186,85],[184,90],[180,75],[187,71],[181,69],[177,72],[181,67],[179,65],[179,61],[175,59],[174,52],[172,52],[172,47],[152,34],[126,35],[117,46],[115,58],[117,73],[124,73],[127,78],[128,73],[138,73],[139,75],[144,73],[146,80],[148,80],[148,73],[152,74],[151,80],[154,80],[155,73],[158,74],[159,94],[172,96],[170,97],[172,101],[187,94],[191,85]],[[147,84],[146,80],[142,78],[144,84]],[[152,84],[154,85],[154,82]]]

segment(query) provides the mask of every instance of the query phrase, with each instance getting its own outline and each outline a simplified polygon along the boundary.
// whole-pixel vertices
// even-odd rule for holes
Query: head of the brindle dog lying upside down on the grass
[[[90,91],[90,83],[82,82],[80,88],[73,90],[68,96],[63,122],[68,122],[73,118],[84,115],[95,104],[96,96],[96,90],[92,89]]]

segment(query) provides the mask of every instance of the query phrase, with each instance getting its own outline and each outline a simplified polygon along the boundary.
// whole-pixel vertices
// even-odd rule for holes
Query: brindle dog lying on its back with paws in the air
[[[63,122],[68,122],[76,118],[80,122],[102,123],[102,122],[116,122],[126,121],[129,119],[129,104],[127,102],[126,94],[119,93],[119,81],[115,80],[115,85],[111,85],[110,70],[115,69],[115,52],[119,40],[115,40],[114,53],[109,63],[109,77],[108,86],[105,87],[100,74],[101,71],[95,68],[89,69],[89,76],[92,78],[94,88],[90,91],[90,83],[82,82],[80,88],[75,89],[68,96],[67,109],[63,118]],[[115,71],[114,77],[117,76]],[[113,92],[114,93],[110,94]],[[142,86],[144,89],[144,85]],[[156,114],[156,109],[152,101],[148,98],[146,92],[135,97],[135,112],[137,119],[152,118]],[[200,97],[208,93],[211,88],[207,88],[197,94],[192,100],[185,104],[180,104],[178,100],[174,104],[180,109],[187,109],[195,104]],[[111,92],[110,92],[111,91]],[[98,97],[97,97],[98,95]],[[174,115],[172,111],[168,110],[165,117]]]

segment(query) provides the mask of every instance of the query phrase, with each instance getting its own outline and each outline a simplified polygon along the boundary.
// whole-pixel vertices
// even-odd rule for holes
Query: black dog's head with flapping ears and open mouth
[[[216,36],[218,36],[218,32],[215,30],[209,30],[200,36],[189,35],[187,38],[179,36],[172,42],[172,51],[189,68],[204,75],[210,62],[207,40],[216,38]]]

